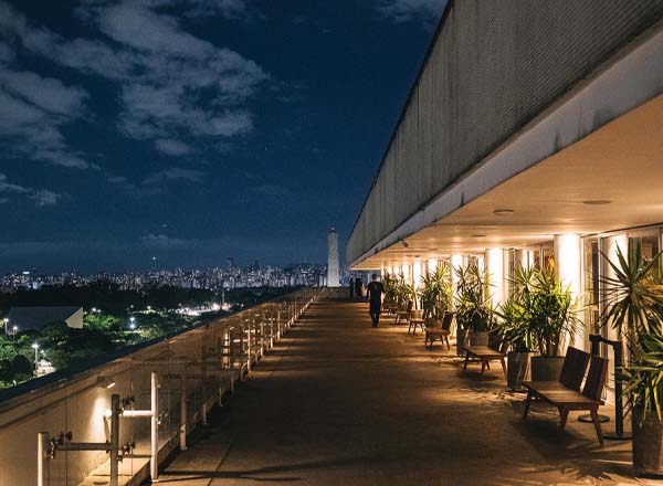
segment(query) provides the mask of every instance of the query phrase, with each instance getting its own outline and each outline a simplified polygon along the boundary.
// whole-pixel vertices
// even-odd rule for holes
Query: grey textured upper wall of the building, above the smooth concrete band
[[[376,175],[375,199],[348,241],[348,261],[662,17],[660,0],[450,1]]]

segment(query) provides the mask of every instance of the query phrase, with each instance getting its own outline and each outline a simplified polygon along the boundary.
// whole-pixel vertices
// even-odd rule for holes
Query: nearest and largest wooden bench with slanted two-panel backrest
[[[571,358],[568,358],[569,355],[571,355]],[[567,358],[565,358],[559,381],[527,381],[523,383],[527,389],[523,419],[527,419],[533,399],[546,401],[559,410],[559,427],[562,431],[571,410],[587,410],[591,415],[597,437],[602,446],[603,434],[601,433],[601,422],[599,420],[599,405],[603,404],[601,393],[608,374],[608,360],[598,356],[589,358],[589,353],[576,348],[568,349]],[[587,373],[585,387],[580,392],[580,383],[588,360],[590,360],[589,372]]]

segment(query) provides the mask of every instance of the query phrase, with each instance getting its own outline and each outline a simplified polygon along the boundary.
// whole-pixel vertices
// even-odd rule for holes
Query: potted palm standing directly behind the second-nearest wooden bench
[[[488,335],[494,325],[494,313],[488,295],[485,272],[476,262],[454,270],[457,278],[455,296],[456,351],[463,353],[465,337],[471,346],[487,346]]]

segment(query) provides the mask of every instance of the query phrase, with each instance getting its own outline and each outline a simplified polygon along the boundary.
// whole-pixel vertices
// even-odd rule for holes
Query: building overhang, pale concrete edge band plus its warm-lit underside
[[[661,59],[663,21],[348,266],[376,270],[663,222]],[[497,216],[499,209],[514,213]]]

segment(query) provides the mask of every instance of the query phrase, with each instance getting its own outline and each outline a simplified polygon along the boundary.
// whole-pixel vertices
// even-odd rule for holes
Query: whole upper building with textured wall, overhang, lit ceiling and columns
[[[663,2],[449,1],[347,244],[351,270],[478,260],[493,304],[554,261],[600,311],[600,254],[662,245]]]

